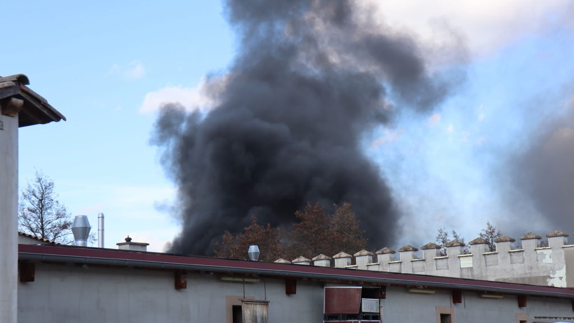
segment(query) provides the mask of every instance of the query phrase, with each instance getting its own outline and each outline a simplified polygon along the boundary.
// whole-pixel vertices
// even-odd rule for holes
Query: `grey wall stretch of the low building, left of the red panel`
[[[18,322],[226,322],[226,295],[243,296],[242,282],[188,274],[187,289],[174,289],[173,272],[37,264],[34,282],[18,283]],[[320,322],[323,287],[266,281],[270,322]],[[263,282],[245,283],[245,295],[264,299]]]

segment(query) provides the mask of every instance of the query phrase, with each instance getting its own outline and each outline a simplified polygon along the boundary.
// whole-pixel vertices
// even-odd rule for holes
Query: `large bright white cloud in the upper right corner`
[[[426,43],[440,44],[448,26],[466,39],[474,56],[488,55],[526,34],[540,34],[574,24],[569,0],[537,1],[379,1],[371,0],[379,17],[395,28],[413,30]],[[444,28],[443,28],[444,29]],[[438,32],[438,33],[437,33]],[[443,37],[443,39],[441,39]]]

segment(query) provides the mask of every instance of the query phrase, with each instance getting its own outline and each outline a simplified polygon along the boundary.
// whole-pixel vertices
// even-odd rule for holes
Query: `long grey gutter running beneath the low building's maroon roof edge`
[[[451,289],[468,289],[475,291],[494,291],[498,293],[507,294],[527,294],[527,295],[541,295],[541,296],[554,296],[561,298],[574,298],[574,294],[553,293],[546,291],[529,291],[517,289],[503,289],[488,286],[476,286],[471,284],[453,284],[453,283],[436,283],[436,282],[420,282],[418,280],[404,280],[404,279],[389,279],[389,278],[370,278],[358,277],[352,275],[331,275],[321,273],[309,273],[299,271],[287,270],[266,270],[255,268],[241,268],[241,267],[223,267],[223,266],[208,266],[197,264],[182,264],[182,263],[169,263],[169,262],[153,262],[149,260],[131,260],[131,259],[109,259],[100,257],[84,257],[84,256],[65,256],[65,255],[50,255],[48,253],[28,253],[19,252],[18,258],[22,260],[38,260],[45,262],[65,262],[65,263],[79,263],[79,264],[102,264],[114,266],[133,266],[133,267],[146,267],[146,268],[164,268],[174,270],[188,270],[188,271],[216,271],[216,272],[233,272],[237,274],[254,274],[254,275],[273,275],[285,276],[287,278],[316,278],[316,279],[333,279],[333,280],[351,280],[353,282],[364,283],[391,283],[391,284],[404,284],[411,286],[425,286],[425,287],[442,287]],[[559,288],[559,287],[556,287]]]

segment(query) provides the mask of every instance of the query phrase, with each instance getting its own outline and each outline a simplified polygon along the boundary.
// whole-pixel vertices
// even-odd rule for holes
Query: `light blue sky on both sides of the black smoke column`
[[[574,94],[574,28],[565,18],[572,5],[377,3],[381,20],[410,30],[429,48],[443,44],[445,29],[468,48],[467,81],[443,105],[404,113],[365,138],[365,151],[402,211],[416,219],[404,241],[389,247],[411,243],[409,236],[430,241],[439,225],[468,240],[486,220],[505,225],[501,217],[513,210],[495,179],[501,152],[520,149],[539,121],[564,113]],[[179,227],[162,211],[175,189],[149,144],[150,131],[161,102],[208,105],[202,78],[224,72],[235,52],[222,6],[29,1],[2,7],[22,14],[4,17],[3,25],[12,27],[3,36],[10,47],[0,52],[0,75],[28,75],[30,87],[68,118],[20,129],[21,187],[34,168],[42,170],[60,201],[73,215],[88,216],[92,230],[98,212],[106,214],[106,247],[130,234],[162,251]],[[441,55],[431,56],[437,70],[445,65]]]

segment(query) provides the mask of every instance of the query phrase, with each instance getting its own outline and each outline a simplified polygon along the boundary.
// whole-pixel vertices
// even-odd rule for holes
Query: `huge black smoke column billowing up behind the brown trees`
[[[351,202],[372,244],[394,239],[400,214],[362,136],[398,106],[432,109],[464,73],[430,72],[409,34],[357,3],[227,1],[241,45],[212,79],[216,107],[166,105],[153,134],[179,187],[183,228],[170,251],[209,255],[223,230],[252,215],[288,226],[307,201]]]

